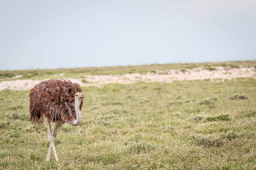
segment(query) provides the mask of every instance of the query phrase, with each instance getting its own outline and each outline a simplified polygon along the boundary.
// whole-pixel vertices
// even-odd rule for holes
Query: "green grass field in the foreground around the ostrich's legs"
[[[82,90],[81,124],[57,133],[59,162],[45,161],[29,91],[0,91],[0,169],[256,169],[254,78]]]

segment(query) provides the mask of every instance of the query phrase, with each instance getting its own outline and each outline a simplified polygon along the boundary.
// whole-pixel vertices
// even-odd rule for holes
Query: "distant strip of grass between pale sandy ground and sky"
[[[21,78],[15,79],[59,79],[59,78],[85,78],[86,75],[109,75],[126,73],[156,73],[162,71],[168,73],[170,70],[193,69],[203,67],[208,70],[215,70],[216,66],[225,67],[225,69],[242,67],[255,67],[256,61],[229,61],[229,62],[204,62],[204,63],[168,63],[164,65],[152,64],[141,66],[115,66],[115,67],[84,67],[75,69],[36,69],[36,70],[3,70],[0,71],[0,81],[9,80],[17,75]],[[84,80],[85,81],[85,80]],[[86,82],[86,81],[85,81]],[[84,82],[84,83],[85,83]]]

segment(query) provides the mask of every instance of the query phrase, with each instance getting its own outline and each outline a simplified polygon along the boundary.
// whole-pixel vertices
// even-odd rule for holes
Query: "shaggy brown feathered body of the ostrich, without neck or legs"
[[[51,122],[76,120],[75,94],[82,92],[70,80],[51,79],[36,84],[30,90],[30,118],[34,125],[43,125],[42,114]],[[82,108],[82,101],[80,110]]]

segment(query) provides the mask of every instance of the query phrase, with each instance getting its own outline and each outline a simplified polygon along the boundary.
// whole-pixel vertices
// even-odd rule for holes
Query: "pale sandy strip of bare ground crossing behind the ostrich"
[[[216,70],[210,71],[203,68],[196,68],[186,70],[184,72],[180,70],[159,71],[156,73],[147,74],[121,74],[121,75],[86,75],[84,78],[73,79],[72,82],[77,82],[80,86],[101,86],[108,83],[120,83],[130,84],[137,82],[168,82],[171,83],[174,80],[186,81],[186,80],[236,80],[236,78],[256,78],[255,68],[232,68],[225,70],[224,67],[216,67]],[[0,91],[5,89],[10,90],[30,90],[42,80],[8,80],[0,82]]]

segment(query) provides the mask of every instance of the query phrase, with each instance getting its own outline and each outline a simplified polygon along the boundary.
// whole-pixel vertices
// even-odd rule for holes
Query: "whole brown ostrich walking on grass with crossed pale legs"
[[[30,118],[35,126],[42,126],[43,120],[48,131],[50,142],[46,161],[51,159],[52,150],[58,162],[55,148],[57,130],[65,122],[72,126],[81,123],[82,89],[70,80],[47,80],[36,84],[30,90]],[[51,122],[55,123],[51,130]]]

